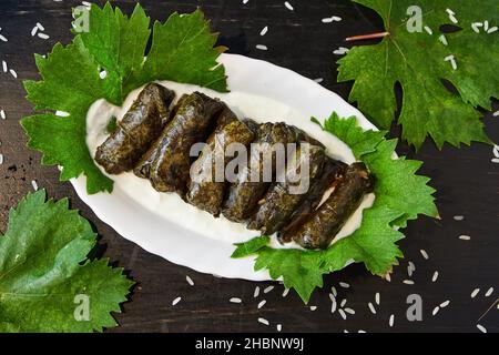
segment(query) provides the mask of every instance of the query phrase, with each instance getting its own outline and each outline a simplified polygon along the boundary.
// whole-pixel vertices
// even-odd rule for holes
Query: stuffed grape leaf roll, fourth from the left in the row
[[[287,143],[296,143],[298,138],[299,132],[285,123],[258,125],[256,140],[252,143],[248,164],[240,172],[237,182],[232,183],[228,189],[222,209],[225,217],[233,222],[244,222],[252,215],[258,201],[275,179],[276,170],[279,170],[274,151],[275,144],[282,143],[286,149]],[[267,176],[268,171],[265,171],[265,166],[271,168],[272,176]]]

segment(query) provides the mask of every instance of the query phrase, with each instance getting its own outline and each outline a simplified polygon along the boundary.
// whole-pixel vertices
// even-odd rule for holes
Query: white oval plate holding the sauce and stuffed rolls
[[[336,111],[340,116],[356,116],[360,126],[366,130],[376,130],[358,110],[339,95],[296,72],[236,54],[222,54],[218,61],[225,65],[231,91],[284,103],[303,113],[304,120],[309,120],[310,116],[323,120]],[[285,121],[285,118],[278,119]],[[254,271],[254,257],[231,258],[234,252],[231,242],[206,237],[166,221],[138,205],[129,194],[116,186],[111,194],[88,195],[84,176],[72,179],[71,183],[80,199],[100,220],[150,253],[202,273],[251,281],[271,280],[268,272]]]

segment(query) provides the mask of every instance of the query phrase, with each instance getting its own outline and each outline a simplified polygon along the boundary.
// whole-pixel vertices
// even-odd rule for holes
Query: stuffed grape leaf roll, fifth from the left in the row
[[[306,200],[314,183],[324,173],[326,162],[323,148],[301,143],[294,161],[286,166],[285,181],[271,186],[258,202],[257,211],[252,215],[247,227],[272,235],[287,225],[293,212]]]

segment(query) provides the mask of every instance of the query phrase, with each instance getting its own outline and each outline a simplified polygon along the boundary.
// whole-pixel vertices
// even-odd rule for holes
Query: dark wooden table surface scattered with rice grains
[[[125,12],[135,1],[113,1]],[[398,152],[425,162],[421,173],[432,178],[431,185],[438,190],[438,207],[441,221],[420,219],[411,222],[405,231],[407,239],[400,245],[406,258],[395,268],[391,283],[369,275],[364,266],[354,265],[325,278],[325,287],[314,294],[310,305],[315,312],[298,300],[295,294],[282,297],[283,287],[276,285],[268,294],[253,298],[255,283],[240,280],[222,280],[197,274],[151,255],[125,241],[110,226],[100,222],[85,206],[69,183],[58,180],[57,168],[40,165],[40,154],[28,150],[26,136],[18,121],[31,113],[31,104],[24,100],[22,80],[38,78],[33,53],[47,53],[57,41],[68,43],[71,7],[79,1],[63,0],[2,0],[0,2],[1,34],[9,39],[0,42],[0,61],[17,71],[19,78],[0,73],[0,109],[7,120],[0,120],[0,152],[4,162],[0,165],[0,230],[7,229],[9,207],[31,187],[37,180],[50,196],[69,196],[72,207],[79,209],[102,236],[105,255],[118,265],[130,271],[139,283],[124,312],[116,315],[121,327],[113,332],[241,332],[275,331],[283,324],[285,332],[478,332],[476,324],[480,316],[498,298],[499,291],[499,164],[491,162],[492,148],[473,144],[461,150],[446,146],[438,151],[431,142],[415,154],[400,144]],[[336,83],[337,55],[333,51],[345,45],[346,36],[370,33],[381,29],[379,18],[373,11],[355,6],[348,0],[291,0],[294,11],[284,7],[284,1],[242,0],[214,1],[157,1],[144,0],[142,4],[153,19],[164,20],[172,11],[189,12],[200,4],[212,20],[213,28],[222,33],[220,43],[231,52],[264,59],[295,70],[308,78],[324,78],[322,84],[347,98],[350,84]],[[305,4],[306,3],[306,4]],[[339,16],[342,22],[323,23],[322,19]],[[30,32],[37,22],[45,28],[50,39],[32,38]],[[268,26],[268,33],[259,36]],[[265,44],[267,51],[257,50]],[[498,110],[497,102],[495,103]],[[499,141],[499,118],[485,114],[489,135]],[[394,130],[393,134],[397,134]],[[465,216],[455,221],[455,215]],[[459,235],[471,236],[461,241]],[[420,250],[429,254],[425,260]],[[406,285],[407,263],[416,265],[413,276],[415,285]],[[431,282],[438,271],[437,282]],[[190,286],[190,275],[195,286]],[[339,298],[347,298],[354,316],[344,321],[330,314],[328,292],[330,286],[346,281],[348,290],[338,288]],[[259,286],[266,287],[271,283]],[[486,291],[496,286],[489,297]],[[470,294],[480,288],[477,297]],[[367,307],[379,292],[381,305],[376,315]],[[419,294],[424,301],[424,321],[406,320],[406,298]],[[181,303],[171,306],[172,300],[182,296]],[[243,298],[243,304],[232,304],[231,297]],[[262,310],[259,301],[267,303]],[[435,306],[449,300],[450,304],[431,315]],[[389,327],[388,318],[395,314],[395,325]],[[257,323],[258,317],[271,322],[267,327]],[[498,310],[492,310],[479,323],[489,332],[499,331]]]

